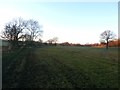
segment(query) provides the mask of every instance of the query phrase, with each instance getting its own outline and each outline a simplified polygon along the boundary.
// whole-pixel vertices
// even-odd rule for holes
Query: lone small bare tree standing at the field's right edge
[[[115,34],[110,30],[106,30],[100,34],[100,38],[106,43],[106,49],[108,49],[109,41],[115,38]]]

